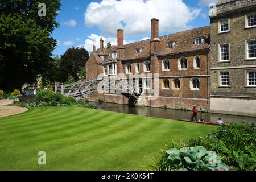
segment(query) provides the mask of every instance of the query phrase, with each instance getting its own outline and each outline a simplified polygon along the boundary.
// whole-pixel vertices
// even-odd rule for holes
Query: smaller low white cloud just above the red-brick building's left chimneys
[[[104,47],[106,47],[106,44],[108,41],[110,41],[112,45],[117,45],[117,38],[115,38],[115,37],[105,38],[104,36],[91,34],[90,36],[88,36],[88,39],[85,40],[84,44],[79,45],[77,47],[84,47],[88,52],[91,52],[93,45],[96,46],[96,49],[100,48],[100,39],[101,38],[104,40]],[[134,41],[133,40],[130,40],[130,41],[124,40],[124,44],[128,44],[131,42],[134,42]]]

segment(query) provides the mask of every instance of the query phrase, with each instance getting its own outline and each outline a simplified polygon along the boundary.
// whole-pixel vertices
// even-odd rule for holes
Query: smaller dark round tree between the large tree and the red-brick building
[[[69,48],[63,55],[61,55],[59,81],[78,81],[81,74],[81,69],[85,67],[88,59],[89,53],[86,51],[86,49],[74,47]],[[72,76],[73,79],[71,79],[70,76]]]

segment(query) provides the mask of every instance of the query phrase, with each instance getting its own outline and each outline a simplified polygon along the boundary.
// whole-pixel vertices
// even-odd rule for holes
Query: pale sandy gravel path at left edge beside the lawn
[[[26,108],[11,106],[11,104],[13,104],[13,100],[0,100],[0,118],[24,113],[27,111]]]

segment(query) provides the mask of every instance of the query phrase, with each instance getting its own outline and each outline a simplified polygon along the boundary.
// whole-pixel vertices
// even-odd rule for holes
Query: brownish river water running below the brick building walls
[[[112,104],[107,102],[102,102],[101,104],[96,104],[101,110],[114,111],[118,113],[126,113],[126,114],[136,114],[136,115],[144,115],[147,117],[155,117],[155,118],[164,118],[164,119],[191,119],[191,111],[185,110],[176,110],[176,109],[162,109],[162,108],[154,108],[154,107],[130,107],[128,105],[120,105],[120,104]],[[222,118],[224,122],[237,122],[245,120],[246,122],[254,122],[256,123],[256,118],[254,117],[242,117],[237,115],[226,115],[226,114],[214,114],[214,113],[199,113],[197,114],[197,118],[199,119],[201,116],[204,117],[206,122],[216,122],[218,118]]]

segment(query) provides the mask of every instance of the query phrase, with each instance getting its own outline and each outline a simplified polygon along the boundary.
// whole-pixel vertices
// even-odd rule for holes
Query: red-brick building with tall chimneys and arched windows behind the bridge
[[[145,92],[156,88],[155,76],[141,79],[134,84],[141,85],[142,96],[137,105],[191,109],[198,105],[202,110],[210,109],[209,88],[209,46],[210,27],[159,36],[159,20],[151,19],[151,39],[123,45],[124,31],[117,30],[118,45],[110,50],[95,49],[86,64],[86,78],[93,79],[102,73],[110,77],[123,73],[127,76],[138,73],[159,74],[159,94]],[[128,104],[129,98],[122,94],[91,94],[88,99],[101,98],[106,102]]]

